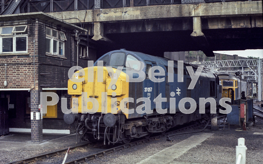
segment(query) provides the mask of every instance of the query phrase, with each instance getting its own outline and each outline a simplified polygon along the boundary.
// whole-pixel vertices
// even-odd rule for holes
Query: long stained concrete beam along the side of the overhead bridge
[[[72,18],[74,15],[80,22],[109,22],[176,17],[240,17],[248,15],[255,16],[255,14],[262,16],[262,1],[106,8],[64,11],[49,14],[60,19]],[[69,19],[67,22],[79,23],[77,19]]]

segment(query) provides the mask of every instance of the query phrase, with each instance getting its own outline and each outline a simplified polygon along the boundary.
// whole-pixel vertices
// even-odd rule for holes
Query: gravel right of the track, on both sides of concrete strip
[[[263,135],[253,135],[254,132],[263,132],[262,122],[255,127],[247,128],[243,131],[239,127],[231,127],[230,131],[211,131],[204,132],[214,133],[213,136],[185,152],[182,156],[175,159],[174,162],[193,162],[193,163],[208,163],[208,164],[229,164],[235,163],[235,147],[237,139],[245,138],[245,145],[248,148],[246,152],[247,164],[262,164],[263,163]],[[164,148],[170,147],[194,134],[184,134],[173,137],[175,142],[166,141],[165,137],[145,143],[139,146],[134,146],[126,150],[110,154],[107,157],[92,160],[91,164],[126,164],[137,163],[160,152]]]

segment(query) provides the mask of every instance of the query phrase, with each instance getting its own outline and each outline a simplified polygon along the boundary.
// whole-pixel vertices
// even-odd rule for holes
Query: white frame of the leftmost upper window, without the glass
[[[28,34],[16,34],[16,33],[21,33],[22,31],[17,31],[17,32],[13,32],[14,28],[17,26],[26,26],[24,31],[26,31],[27,29],[27,25],[14,25],[14,26],[2,26],[0,27],[0,54],[10,54],[10,53],[27,53],[28,52]],[[2,33],[2,29],[4,27],[13,27],[12,32],[9,34],[1,34]],[[3,52],[3,38],[13,38],[13,49],[11,52]],[[26,37],[26,50],[25,51],[16,51],[16,38],[17,37]]]

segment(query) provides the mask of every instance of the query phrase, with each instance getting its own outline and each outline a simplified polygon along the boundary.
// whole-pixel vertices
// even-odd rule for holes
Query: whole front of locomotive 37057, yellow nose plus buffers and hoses
[[[129,96],[126,76],[116,68],[95,66],[75,72],[68,80],[72,113],[65,114],[64,120],[67,117],[78,120],[77,132],[82,129],[81,140],[96,142],[104,138],[105,142],[106,137],[109,143],[123,140],[120,129],[125,117],[128,118],[128,114],[121,111],[121,101]],[[128,109],[128,103],[124,103]],[[110,137],[110,133],[117,135]]]

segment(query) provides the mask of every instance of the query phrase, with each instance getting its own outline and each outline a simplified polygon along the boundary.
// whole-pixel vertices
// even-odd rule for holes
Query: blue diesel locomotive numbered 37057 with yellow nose
[[[131,66],[128,61],[137,61],[139,64]],[[196,84],[193,89],[189,89],[192,77],[188,68],[191,67],[190,70],[195,73],[199,68],[180,62],[182,67],[179,69],[180,63],[173,61],[173,82],[169,82],[168,75],[171,73],[168,73],[168,69],[171,70],[171,65],[168,68],[168,61],[167,58],[126,50],[106,53],[94,63],[94,67],[84,68],[82,74],[81,71],[76,72],[79,73],[77,78],[83,78],[82,82],[73,82],[72,79],[68,81],[68,94],[72,95],[71,105],[76,109],[75,114],[65,114],[65,122],[73,123],[76,118],[77,130],[83,129],[82,140],[96,142],[104,139],[109,143],[128,143],[133,138],[149,137],[152,133],[163,133],[178,125],[210,118],[210,104],[205,103],[205,111],[200,113],[199,104],[203,102],[199,102],[199,98],[212,97],[216,106],[219,105],[222,85],[219,84],[218,76],[207,69],[200,69]],[[103,63],[101,68],[100,63]],[[159,69],[151,72],[155,66]],[[118,67],[121,70],[119,72]],[[127,76],[130,79],[131,76],[138,77],[136,73],[127,75],[128,69],[144,72],[144,80],[128,81]],[[89,74],[90,72],[93,73]],[[151,79],[152,73],[155,79],[162,80],[154,82]],[[183,75],[180,82],[179,74]],[[98,78],[103,80],[97,80]],[[112,80],[115,83],[111,83]],[[190,114],[179,109],[180,100],[187,97],[196,103],[183,103],[185,110],[196,105],[194,112]],[[132,112],[127,112],[128,110]],[[163,110],[165,113],[159,112]]]

